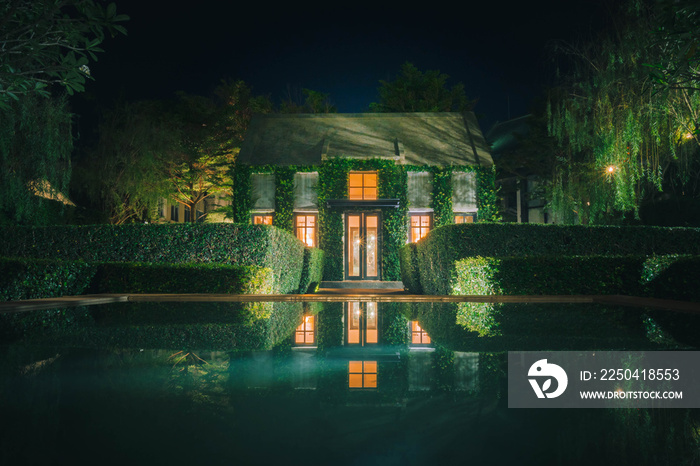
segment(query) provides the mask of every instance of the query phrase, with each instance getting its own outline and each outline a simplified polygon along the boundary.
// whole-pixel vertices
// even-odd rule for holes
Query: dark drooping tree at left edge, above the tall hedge
[[[0,109],[0,224],[51,221],[42,197],[65,201],[72,150],[65,97],[27,95]]]

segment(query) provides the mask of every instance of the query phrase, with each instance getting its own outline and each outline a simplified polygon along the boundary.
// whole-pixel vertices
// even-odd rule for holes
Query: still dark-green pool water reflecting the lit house
[[[5,316],[0,464],[700,463],[699,410],[509,409],[513,350],[696,350],[592,304],[142,303]]]

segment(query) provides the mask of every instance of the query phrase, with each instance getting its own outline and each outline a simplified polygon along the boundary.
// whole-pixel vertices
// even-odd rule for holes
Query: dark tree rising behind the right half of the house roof
[[[471,110],[476,101],[469,100],[464,84],[447,87],[449,76],[438,70],[419,71],[404,63],[394,81],[379,81],[379,102],[370,104],[374,112],[462,112]]]

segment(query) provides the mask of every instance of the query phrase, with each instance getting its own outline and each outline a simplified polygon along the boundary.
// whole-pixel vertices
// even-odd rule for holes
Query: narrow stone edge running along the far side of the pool
[[[343,289],[319,290],[316,294],[230,295],[230,294],[96,294],[60,298],[0,302],[0,314],[119,302],[452,302],[452,303],[598,303],[638,308],[665,309],[700,314],[700,303],[625,295],[461,295],[430,296],[406,294],[403,290]]]

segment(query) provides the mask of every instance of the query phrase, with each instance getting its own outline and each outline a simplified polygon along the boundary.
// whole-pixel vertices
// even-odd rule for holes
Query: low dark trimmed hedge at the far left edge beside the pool
[[[80,295],[95,272],[80,261],[0,258],[0,301]]]

